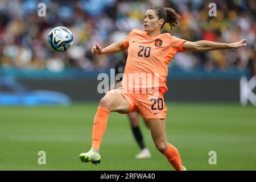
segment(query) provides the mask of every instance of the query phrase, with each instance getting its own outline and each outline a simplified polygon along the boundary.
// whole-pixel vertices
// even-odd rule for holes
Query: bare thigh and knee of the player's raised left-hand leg
[[[122,96],[120,90],[110,90],[101,99],[100,105],[109,109],[109,111],[118,111],[120,113],[126,113],[130,109],[129,102]]]

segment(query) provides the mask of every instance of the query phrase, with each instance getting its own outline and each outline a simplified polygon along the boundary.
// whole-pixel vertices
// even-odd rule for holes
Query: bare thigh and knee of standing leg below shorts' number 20
[[[166,147],[166,119],[149,119],[147,124],[150,127],[151,136],[156,147]]]

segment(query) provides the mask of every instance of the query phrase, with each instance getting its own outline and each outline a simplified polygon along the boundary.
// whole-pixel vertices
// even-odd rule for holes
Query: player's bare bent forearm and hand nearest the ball
[[[98,46],[98,44],[95,44],[92,47],[92,53],[96,54],[96,55],[101,55],[104,53],[116,53],[116,52],[124,51],[125,49],[127,49],[127,47],[123,46],[122,41],[114,42],[113,44],[111,44],[108,47],[105,47],[103,49],[100,46]]]

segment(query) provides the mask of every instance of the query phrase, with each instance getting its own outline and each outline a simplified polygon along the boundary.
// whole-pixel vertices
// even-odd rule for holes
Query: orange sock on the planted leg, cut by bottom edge
[[[180,154],[177,148],[169,143],[167,151],[164,152],[168,162],[175,168],[176,171],[183,171]]]

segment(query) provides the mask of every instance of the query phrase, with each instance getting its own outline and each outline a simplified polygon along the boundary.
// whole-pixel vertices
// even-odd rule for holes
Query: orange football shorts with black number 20
[[[128,93],[125,89],[119,88],[119,90],[130,104],[130,109],[127,113],[138,110],[142,118],[146,121],[154,118],[166,118],[167,107],[164,103],[163,93]]]

